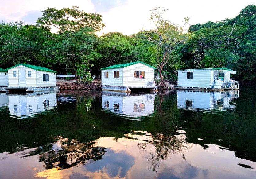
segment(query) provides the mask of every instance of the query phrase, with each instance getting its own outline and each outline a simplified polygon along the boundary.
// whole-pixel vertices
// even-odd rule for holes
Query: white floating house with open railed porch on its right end
[[[177,89],[238,90],[239,82],[229,82],[230,74],[236,71],[228,68],[179,70]]]

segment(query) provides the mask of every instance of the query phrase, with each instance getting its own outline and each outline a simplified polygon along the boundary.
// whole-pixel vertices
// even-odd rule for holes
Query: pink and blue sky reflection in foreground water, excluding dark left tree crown
[[[187,143],[185,134],[171,136],[182,143],[175,147],[166,145],[150,133],[134,132],[123,138],[100,137],[93,147],[104,147],[106,153],[97,161],[88,160],[82,165],[60,170],[58,162],[53,168],[45,170],[39,156],[27,155],[34,149],[27,149],[14,154],[0,153],[0,178],[255,178],[256,162],[240,159],[235,152],[216,144],[208,144],[204,149],[198,144]],[[133,138],[133,139],[131,139]],[[170,137],[165,137],[169,140]],[[166,141],[165,141],[166,142]],[[77,144],[80,145],[80,144]],[[64,146],[64,144],[63,144]],[[64,147],[62,147],[64,148]],[[158,148],[157,153],[156,148]],[[50,149],[52,150],[52,149]],[[77,154],[79,148],[66,149],[70,155]],[[51,153],[51,151],[48,151]],[[41,154],[47,157],[47,153]],[[164,155],[164,157],[162,157]],[[24,165],[24,159],[26,165]],[[75,161],[73,161],[75,162]],[[250,166],[245,168],[243,166]],[[154,167],[154,170],[152,168]],[[12,168],[12,172],[8,168]],[[31,170],[33,169],[33,170]],[[6,172],[8,175],[6,175]],[[21,175],[21,172],[25,175]]]

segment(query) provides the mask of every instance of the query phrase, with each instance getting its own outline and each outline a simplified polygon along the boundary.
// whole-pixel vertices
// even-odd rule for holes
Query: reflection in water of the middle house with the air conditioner
[[[155,94],[102,92],[102,108],[118,115],[140,117],[154,112]]]

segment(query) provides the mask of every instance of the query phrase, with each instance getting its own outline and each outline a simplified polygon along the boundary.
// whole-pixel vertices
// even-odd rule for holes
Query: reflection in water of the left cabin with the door
[[[57,106],[56,93],[8,95],[9,111],[15,116],[30,116]]]

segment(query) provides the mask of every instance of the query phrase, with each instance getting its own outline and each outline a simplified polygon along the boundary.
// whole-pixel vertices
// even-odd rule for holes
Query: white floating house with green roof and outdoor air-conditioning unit
[[[155,67],[141,61],[101,68],[103,90],[131,92],[134,88],[158,91],[155,86]]]

